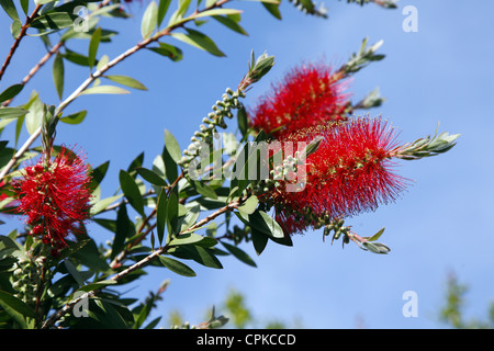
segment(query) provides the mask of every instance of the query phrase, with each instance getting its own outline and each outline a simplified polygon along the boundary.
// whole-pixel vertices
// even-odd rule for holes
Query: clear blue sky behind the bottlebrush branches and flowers
[[[306,16],[284,2],[282,21],[274,20],[258,3],[234,3],[245,10],[247,37],[214,23],[204,25],[202,29],[226,58],[173,43],[183,49],[181,63],[150,52],[125,60],[111,72],[132,76],[149,91],[80,98],[68,111],[87,109],[86,121],[79,126],[60,125],[57,143],[83,147],[93,166],[111,160],[103,183],[103,195],[111,195],[117,186],[119,170],[126,169],[141,151],[145,151],[145,166],[151,165],[161,150],[165,128],[173,133],[182,148],[188,145],[225,88],[235,88],[242,79],[251,49],[273,55],[276,66],[249,92],[247,105],[255,104],[271,82],[302,60],[326,59],[338,66],[359,48],[363,37],[369,37],[370,43],[384,39],[380,52],[386,58],[355,76],[349,86],[352,99],[358,101],[379,87],[386,102],[369,114],[388,118],[400,131],[400,140],[434,134],[440,123],[440,132],[461,134],[458,145],[446,155],[401,162],[400,173],[414,181],[402,199],[348,219],[361,236],[385,227],[382,241],[392,249],[388,256],[364,252],[355,245],[341,249],[340,241],[333,246],[329,240],[323,242],[322,231],[306,233],[295,236],[291,248],[268,245],[256,258],[256,269],[226,258],[222,259],[223,270],[191,263],[198,272],[193,279],[151,270],[133,286],[132,294],[146,294],[169,278],[171,284],[156,315],[178,309],[191,322],[200,322],[205,310],[221,304],[234,287],[245,294],[261,322],[278,318],[289,324],[297,319],[307,328],[438,328],[444,327],[437,315],[444,304],[447,274],[453,271],[471,287],[467,316],[486,317],[487,305],[494,301],[494,226],[490,219],[494,210],[494,162],[489,134],[494,126],[494,4],[402,0],[401,8],[413,4],[418,10],[418,32],[405,33],[401,9],[361,8],[328,0],[329,19],[323,20]],[[121,35],[113,44],[102,45],[100,54],[114,57],[138,41],[144,9],[144,4],[135,4],[131,8],[134,19],[115,22]],[[1,57],[11,43],[8,25],[7,16],[0,14]],[[74,48],[87,49],[87,42],[78,45]],[[42,53],[38,39],[25,38],[1,88],[24,77]],[[57,103],[47,68],[30,82],[24,99],[33,89],[52,86],[43,90],[42,99]],[[67,95],[88,72],[74,65],[66,70]],[[2,139],[11,136],[13,131],[8,129]],[[25,136],[23,133],[21,139]],[[110,239],[109,233],[98,226],[90,229],[98,240]],[[243,248],[256,256],[250,247]],[[406,291],[417,293],[416,318],[402,314]]]

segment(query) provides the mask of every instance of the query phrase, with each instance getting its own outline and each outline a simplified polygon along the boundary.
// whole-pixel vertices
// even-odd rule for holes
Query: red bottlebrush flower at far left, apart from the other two
[[[67,246],[66,237],[77,235],[89,218],[90,177],[82,155],[63,148],[49,160],[26,167],[13,182],[18,212],[25,215],[30,234],[42,237],[55,249]]]

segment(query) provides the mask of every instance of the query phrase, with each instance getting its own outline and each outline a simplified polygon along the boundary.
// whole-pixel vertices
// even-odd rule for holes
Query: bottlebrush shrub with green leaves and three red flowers
[[[11,33],[3,36],[12,39],[1,43],[7,56],[0,60],[0,80],[2,84],[5,77],[16,81],[0,91],[0,134],[5,137],[0,140],[0,211],[5,214],[2,219],[14,217],[15,226],[20,222],[14,213],[25,220],[22,228],[9,231],[0,226],[0,328],[154,328],[161,317],[148,318],[166,293],[168,276],[148,296],[130,296],[135,284],[147,279],[151,265],[173,279],[175,274],[197,275],[195,263],[222,269],[224,256],[256,267],[243,245],[252,245],[260,254],[268,242],[292,245],[291,235],[308,229],[324,227],[324,235],[334,233],[333,239],[352,240],[371,252],[389,251],[375,242],[382,230],[360,237],[344,225],[344,219],[401,194],[406,181],[395,173],[395,159],[416,160],[446,152],[458,135],[441,133],[396,146],[388,123],[350,117],[356,110],[383,102],[375,90],[358,103],[352,103],[347,92],[350,76],[384,58],[378,54],[382,41],[368,46],[364,39],[339,68],[296,66],[257,106],[246,109],[244,99],[274,66],[274,57],[267,53],[256,57],[251,52],[247,72],[240,72],[245,75],[239,76],[236,88],[218,93],[212,111],[198,121],[199,129],[190,131],[189,146],[181,148],[166,129],[162,150],[149,165],[143,151],[117,171],[113,182],[105,179],[103,192],[102,181],[114,162],[110,166],[108,160],[90,169],[82,152],[56,144],[63,133],[59,124],[77,128],[89,114],[104,117],[98,116],[98,99],[109,101],[98,98],[100,94],[111,94],[110,103],[121,103],[124,100],[115,94],[130,93],[127,89],[147,90],[126,76],[121,65],[144,49],[164,57],[165,64],[155,69],[160,73],[176,69],[169,65],[182,59],[181,45],[225,56],[205,34],[209,23],[247,34],[240,25],[242,11],[229,8],[232,0],[149,0],[142,2],[146,9],[139,39],[113,56],[108,46],[121,32],[116,26],[131,18],[124,2],[0,1],[5,12],[2,21],[12,20],[5,26]],[[324,9],[312,1],[291,2],[307,14],[325,16]],[[262,8],[280,18],[279,2],[262,2]],[[15,76],[23,67],[11,65],[21,55],[18,48],[35,53],[27,45],[38,37],[47,50],[32,69]],[[120,46],[123,43],[119,39]],[[86,69],[74,69],[72,64]],[[43,79],[32,80],[42,69],[52,69],[47,76],[53,77],[53,86]],[[111,73],[114,70],[115,75]],[[67,91],[69,88],[74,90]],[[26,90],[32,93],[25,95]],[[201,89],[195,89],[189,98],[199,93]],[[97,100],[88,103],[80,99],[89,94]],[[165,98],[167,104],[173,103],[173,97]],[[188,99],[180,106],[193,102]],[[70,111],[81,104],[81,111]],[[162,121],[187,128],[180,116],[159,123]],[[232,125],[234,122],[237,125]],[[12,131],[4,133],[10,127]],[[220,129],[226,128],[235,128],[235,133],[224,138],[227,145],[214,150]],[[24,141],[23,131],[29,133]],[[12,140],[8,136],[13,136]],[[41,145],[36,145],[40,139]],[[257,151],[249,151],[252,141],[305,146],[294,154],[285,152],[280,165],[271,165],[267,177],[251,179],[242,177],[250,174],[250,166],[270,165],[270,158],[260,160]],[[212,155],[203,152],[210,149]],[[38,161],[29,163],[27,159]],[[190,171],[192,166],[198,168],[199,179]],[[291,176],[303,172],[304,167],[302,191],[287,192],[283,185],[292,185]],[[228,173],[240,177],[227,179]],[[108,188],[113,188],[112,195],[103,197]],[[91,224],[91,230],[86,230],[86,223]],[[216,328],[226,321],[213,309],[211,318],[197,328]]]

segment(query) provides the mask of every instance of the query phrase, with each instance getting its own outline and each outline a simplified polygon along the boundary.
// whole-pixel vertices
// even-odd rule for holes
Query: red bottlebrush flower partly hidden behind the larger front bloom
[[[307,127],[346,120],[348,94],[343,92],[341,79],[343,73],[323,65],[295,68],[249,113],[251,126],[280,138]]]

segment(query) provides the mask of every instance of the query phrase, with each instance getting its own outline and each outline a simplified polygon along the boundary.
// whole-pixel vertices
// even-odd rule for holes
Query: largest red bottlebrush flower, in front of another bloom
[[[279,186],[263,195],[273,201],[276,219],[288,234],[314,227],[318,218],[373,211],[394,201],[406,185],[392,172],[394,131],[381,118],[313,127],[285,140],[308,143],[319,136],[319,147],[306,160],[304,189],[285,192]]]

